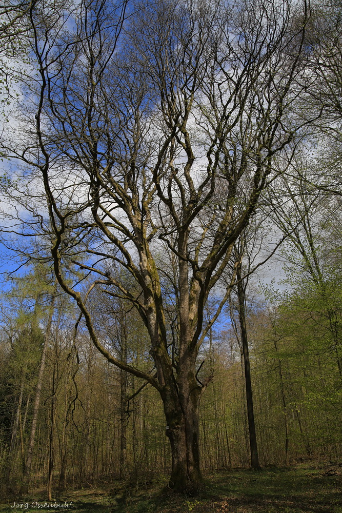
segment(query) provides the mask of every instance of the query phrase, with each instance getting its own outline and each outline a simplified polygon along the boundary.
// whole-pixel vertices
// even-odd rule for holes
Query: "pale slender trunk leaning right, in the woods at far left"
[[[44,377],[45,362],[46,362],[46,353],[48,350],[48,344],[49,344],[49,338],[50,338],[50,332],[51,332],[51,324],[52,324],[55,297],[56,297],[56,293],[54,292],[52,299],[51,299],[50,308],[49,308],[49,318],[48,318],[48,322],[47,322],[47,326],[46,326],[46,332],[45,332],[45,337],[44,337],[44,347],[43,347],[43,352],[42,352],[41,365],[39,367],[38,382],[37,382],[37,388],[36,388],[36,393],[35,393],[35,398],[34,398],[29,446],[28,446],[26,462],[25,462],[23,483],[21,486],[21,491],[23,493],[27,493],[29,486],[30,486],[35,432],[36,432],[36,428],[37,428],[39,405],[41,404],[41,395],[42,395],[42,385],[43,385],[43,377]]]

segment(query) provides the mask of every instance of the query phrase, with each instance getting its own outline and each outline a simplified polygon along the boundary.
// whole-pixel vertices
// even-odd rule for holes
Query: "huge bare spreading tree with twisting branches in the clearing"
[[[23,231],[17,221],[8,230],[39,235],[97,349],[160,393],[178,490],[202,481],[198,401],[210,377],[197,378],[196,360],[206,302],[274,179],[273,161],[300,137],[293,107],[307,17],[305,3],[284,0],[30,10],[37,75],[22,129],[5,143],[25,172],[4,184],[31,215],[19,215]],[[87,294],[137,309],[151,372],[109,351],[78,286],[85,275]]]

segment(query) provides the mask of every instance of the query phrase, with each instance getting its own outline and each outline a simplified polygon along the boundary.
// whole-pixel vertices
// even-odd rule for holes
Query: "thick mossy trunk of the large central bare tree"
[[[172,470],[169,487],[180,492],[195,495],[203,479],[199,465],[199,408],[198,401],[204,387],[199,386],[195,376],[196,363],[196,322],[198,315],[199,285],[190,294],[189,267],[186,260],[189,229],[179,234],[178,251],[184,255],[179,265],[179,341],[177,378],[174,377],[170,359],[162,363],[162,372],[158,371],[158,381],[164,382],[160,389],[167,422],[166,435],[172,451]],[[163,323],[165,326],[165,322]],[[151,323],[152,326],[152,323]],[[166,332],[164,348],[167,348]],[[152,338],[151,338],[152,340]],[[164,349],[165,351],[165,349]],[[167,356],[167,349],[166,354]]]

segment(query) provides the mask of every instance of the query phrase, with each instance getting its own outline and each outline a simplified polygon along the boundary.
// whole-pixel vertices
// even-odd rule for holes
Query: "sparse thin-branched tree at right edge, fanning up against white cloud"
[[[272,201],[271,213],[275,224],[287,237],[287,244],[280,252],[286,262],[285,283],[294,290],[297,282],[299,290],[306,283],[308,292],[312,293],[311,298],[320,298],[321,306],[325,305],[326,320],[316,318],[317,327],[322,322],[327,326],[329,346],[333,348],[341,374],[340,314],[334,300],[339,294],[339,264],[336,260],[340,242],[338,207],[335,213],[332,212],[332,206],[336,207],[338,201],[336,203],[336,197],[326,191],[308,185],[305,159],[296,160],[293,166],[299,168],[298,177],[292,177],[291,181],[279,180],[282,193]],[[335,293],[332,292],[334,286]]]

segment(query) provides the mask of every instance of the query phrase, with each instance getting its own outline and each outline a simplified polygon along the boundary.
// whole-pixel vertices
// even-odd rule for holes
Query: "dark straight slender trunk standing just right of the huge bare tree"
[[[249,360],[248,350],[248,337],[246,327],[246,312],[245,312],[245,289],[242,282],[241,265],[237,266],[237,298],[238,298],[238,313],[239,323],[241,330],[242,350],[245,365],[245,384],[246,384],[246,400],[247,400],[247,416],[249,428],[249,444],[251,451],[251,469],[259,470],[259,457],[256,441],[255,422],[254,422],[254,409],[253,409],[253,393],[252,393],[252,380],[251,380],[251,366]]]

